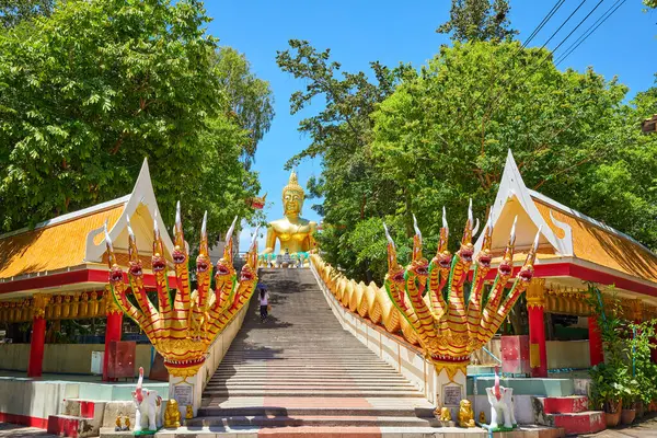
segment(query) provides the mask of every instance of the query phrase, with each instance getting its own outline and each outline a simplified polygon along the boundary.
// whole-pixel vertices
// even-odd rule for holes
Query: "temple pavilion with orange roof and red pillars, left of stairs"
[[[107,377],[107,347],[120,339],[123,312],[107,298],[103,226],[107,223],[118,263],[125,267],[128,218],[142,254],[145,284],[154,289],[153,220],[162,230],[166,260],[171,260],[173,243],[158,209],[146,160],[129,195],[0,235],[0,328],[32,324],[28,377],[42,376],[47,321],[57,324],[99,318],[106,318],[103,376]]]

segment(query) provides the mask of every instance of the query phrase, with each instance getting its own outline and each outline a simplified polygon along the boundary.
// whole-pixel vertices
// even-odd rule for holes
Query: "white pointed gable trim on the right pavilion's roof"
[[[520,171],[514,161],[514,154],[509,149],[506,163],[504,165],[504,173],[502,175],[502,181],[499,183],[499,189],[497,191],[497,196],[495,197],[495,203],[491,209],[492,214],[492,224],[495,227],[497,219],[502,216],[502,211],[504,206],[508,201],[508,199],[516,197],[520,203],[522,209],[527,212],[532,222],[537,226],[537,229],[540,226],[543,226],[542,234],[550,242],[550,244],[554,247],[555,252],[561,255],[572,255],[573,254],[573,238],[572,230],[565,223],[554,222],[557,227],[562,228],[565,232],[564,239],[558,239],[556,234],[552,231],[548,222],[541,216],[541,212],[537,208],[531,198],[530,191],[525,185],[522,181],[522,176],[520,175]],[[479,252],[482,247],[484,241],[484,233],[481,233],[476,243],[474,244],[475,253]]]

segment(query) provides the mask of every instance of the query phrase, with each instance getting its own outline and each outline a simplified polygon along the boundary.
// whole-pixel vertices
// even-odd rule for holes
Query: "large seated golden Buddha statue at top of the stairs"
[[[274,253],[276,240],[280,242],[280,254],[286,252],[290,255],[306,253],[308,256],[308,253],[315,249],[313,233],[318,223],[300,216],[304,197],[306,193],[297,181],[297,174],[292,171],[288,185],[283,189],[285,218],[267,224],[267,241],[263,253]]]

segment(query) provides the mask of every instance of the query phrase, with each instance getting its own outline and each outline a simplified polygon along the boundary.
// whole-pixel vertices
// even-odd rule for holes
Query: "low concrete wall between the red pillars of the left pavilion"
[[[104,351],[105,344],[46,344],[44,348],[44,372],[91,374],[91,353]],[[135,376],[143,367],[150,372],[151,345],[137,345]],[[0,369],[27,371],[30,344],[0,344]]]

